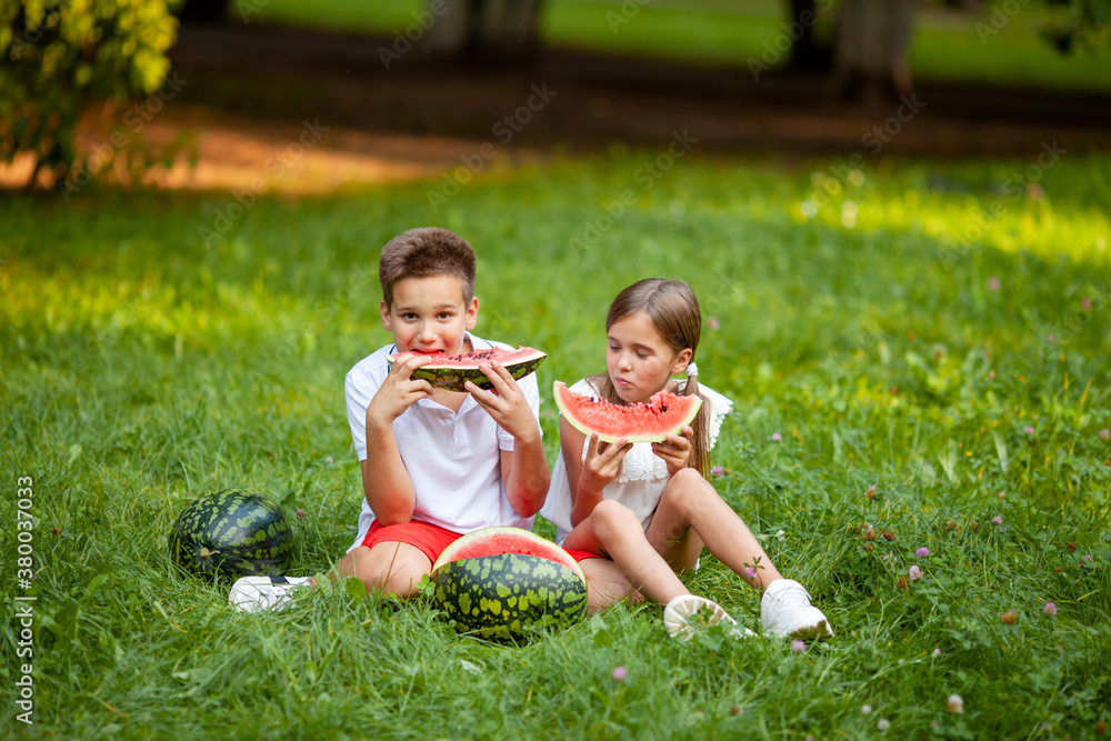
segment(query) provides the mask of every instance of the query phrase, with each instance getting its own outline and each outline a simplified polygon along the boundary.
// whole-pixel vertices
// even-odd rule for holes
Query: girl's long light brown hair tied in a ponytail
[[[655,331],[677,354],[690,348],[691,359],[698,352],[698,341],[702,337],[702,311],[698,298],[690,286],[681,280],[663,280],[647,278],[638,281],[618,293],[610,304],[610,313],[605,317],[605,331],[630,314],[643,311],[651,320]],[[594,388],[602,397],[614,404],[627,403],[618,395],[608,373],[591,379]],[[687,384],[679,390],[679,395],[699,394],[698,377],[689,375]],[[710,473],[710,400],[702,397],[702,408],[691,428],[691,455],[688,468],[698,470],[702,475]]]

